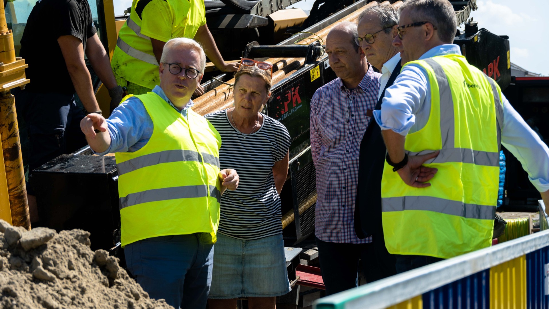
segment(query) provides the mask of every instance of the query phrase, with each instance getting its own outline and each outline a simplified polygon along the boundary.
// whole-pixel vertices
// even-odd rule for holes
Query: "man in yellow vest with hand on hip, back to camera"
[[[385,246],[399,273],[491,245],[500,143],[549,205],[549,148],[451,44],[456,26],[447,0],[400,7],[403,68],[374,111],[388,151]]]

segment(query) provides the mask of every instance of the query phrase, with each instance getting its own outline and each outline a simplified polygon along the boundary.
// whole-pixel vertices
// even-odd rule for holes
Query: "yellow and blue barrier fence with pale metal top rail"
[[[549,309],[549,224],[540,231],[323,297],[316,309]]]

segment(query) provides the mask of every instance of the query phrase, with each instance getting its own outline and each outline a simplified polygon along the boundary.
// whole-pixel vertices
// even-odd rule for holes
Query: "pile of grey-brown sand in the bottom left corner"
[[[0,220],[1,308],[173,308],[153,300],[89,233],[12,227]]]

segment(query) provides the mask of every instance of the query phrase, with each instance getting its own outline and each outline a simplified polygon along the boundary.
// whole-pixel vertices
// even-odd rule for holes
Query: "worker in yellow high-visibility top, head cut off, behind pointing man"
[[[133,0],[111,60],[118,84],[133,95],[151,91],[159,83],[158,64],[164,44],[175,37],[194,38],[217,68],[236,71],[238,63],[223,61],[205,13],[204,0]],[[200,86],[198,92],[203,92]]]

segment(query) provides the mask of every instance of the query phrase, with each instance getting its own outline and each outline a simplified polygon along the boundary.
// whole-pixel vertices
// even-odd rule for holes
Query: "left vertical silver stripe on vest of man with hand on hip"
[[[442,66],[433,58],[423,60],[427,62],[435,72],[436,82],[439,85],[440,95],[440,134],[442,137],[442,148],[455,147],[455,123],[453,116],[452,91],[448,78]],[[433,108],[433,107],[431,107]]]

